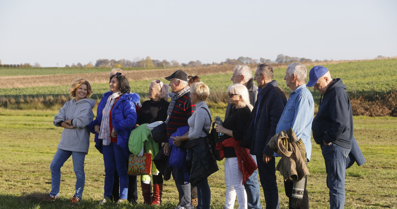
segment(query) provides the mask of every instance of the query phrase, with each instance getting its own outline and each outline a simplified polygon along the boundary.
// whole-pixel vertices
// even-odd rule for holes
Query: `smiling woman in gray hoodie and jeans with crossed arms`
[[[77,203],[83,196],[85,183],[84,159],[90,144],[88,125],[94,119],[95,100],[88,99],[93,94],[93,90],[90,83],[85,79],[77,79],[67,91],[74,98],[66,102],[54,118],[54,125],[63,127],[64,130],[58,144],[58,150],[50,165],[52,189],[48,195],[48,200],[54,201],[58,197],[61,167],[72,156],[73,171],[76,174],[76,192],[70,202]]]

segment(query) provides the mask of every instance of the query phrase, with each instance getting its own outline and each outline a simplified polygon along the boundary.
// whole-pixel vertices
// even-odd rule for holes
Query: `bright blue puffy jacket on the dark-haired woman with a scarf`
[[[95,147],[102,153],[102,140],[98,140],[98,133],[94,131],[94,126],[100,126],[102,122],[102,110],[106,105],[106,101],[109,96],[112,96],[113,92],[106,92],[103,94],[103,98],[98,104],[96,111],[96,119],[89,125],[91,133],[95,134]],[[135,103],[139,102],[141,98],[136,93],[125,93],[119,97],[112,109],[112,125],[114,130],[117,132],[117,144],[128,150],[129,134],[134,129],[137,123],[137,113],[135,111]]]

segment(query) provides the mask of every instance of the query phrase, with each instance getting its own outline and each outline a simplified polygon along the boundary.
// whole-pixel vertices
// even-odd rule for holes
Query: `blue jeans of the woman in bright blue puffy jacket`
[[[127,199],[128,195],[128,174],[127,150],[112,142],[109,145],[102,146],[103,161],[105,164],[105,186],[104,197],[111,198],[114,184],[114,173],[117,168],[120,183],[120,199]]]

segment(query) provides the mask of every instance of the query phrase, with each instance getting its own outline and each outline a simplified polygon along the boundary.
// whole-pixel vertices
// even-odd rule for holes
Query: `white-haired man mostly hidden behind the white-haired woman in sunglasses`
[[[233,84],[243,84],[248,89],[249,101],[253,106],[258,98],[258,86],[254,85],[254,79],[252,78],[252,71],[247,65],[236,65],[234,67],[231,81]],[[230,102],[227,103],[225,120],[231,115],[231,110],[235,108]],[[256,163],[256,156],[251,155]],[[247,205],[248,209],[261,209],[260,205],[260,186],[258,182],[258,171],[254,171],[252,175],[244,183],[245,191],[247,192]]]

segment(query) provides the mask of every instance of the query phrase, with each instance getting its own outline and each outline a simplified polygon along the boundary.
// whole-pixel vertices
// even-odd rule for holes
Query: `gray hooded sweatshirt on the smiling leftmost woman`
[[[93,108],[95,100],[81,99],[75,102],[76,99],[66,102],[65,105],[55,115],[54,125],[59,127],[60,121],[73,119],[73,129],[64,128],[62,131],[61,140],[58,144],[58,149],[67,151],[79,151],[88,153],[90,146],[90,131],[88,125],[94,119]]]

